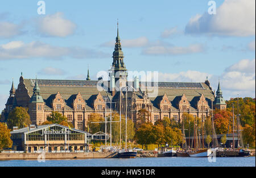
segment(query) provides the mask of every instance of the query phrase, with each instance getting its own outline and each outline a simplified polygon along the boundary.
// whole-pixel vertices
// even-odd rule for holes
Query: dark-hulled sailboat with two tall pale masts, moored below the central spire
[[[120,147],[121,147],[121,92],[120,89]],[[125,111],[125,149],[119,150],[117,154],[117,158],[136,158],[137,151],[133,151],[132,149],[127,149],[127,88],[126,88],[126,111]]]

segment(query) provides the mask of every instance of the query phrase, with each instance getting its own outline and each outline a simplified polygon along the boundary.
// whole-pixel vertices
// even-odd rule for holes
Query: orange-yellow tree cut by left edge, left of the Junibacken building
[[[11,146],[13,146],[13,141],[11,140],[10,129],[0,122],[0,151],[4,148],[11,148]]]

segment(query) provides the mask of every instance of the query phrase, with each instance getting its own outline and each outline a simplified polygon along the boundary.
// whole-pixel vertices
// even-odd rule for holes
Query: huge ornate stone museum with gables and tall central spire
[[[106,117],[110,112],[119,112],[119,96],[125,104],[126,92],[120,94],[117,88],[127,84],[133,88],[127,92],[127,111],[128,118],[134,122],[137,122],[141,109],[148,111],[152,123],[164,117],[180,122],[183,113],[205,119],[215,108],[226,109],[220,82],[215,97],[208,78],[204,82],[152,82],[150,86],[139,81],[138,76],[131,82],[127,81],[118,30],[109,80],[90,80],[89,69],[87,73],[86,80],[32,79],[21,75],[18,88],[15,90],[14,85],[11,86],[10,97],[2,112],[2,122],[7,121],[8,114],[14,107],[22,106],[28,107],[28,114],[34,125],[40,125],[52,111],[58,111],[68,118],[75,129],[85,130],[92,113]],[[151,89],[157,89],[155,96],[150,95]],[[110,101],[113,102],[111,108]]]

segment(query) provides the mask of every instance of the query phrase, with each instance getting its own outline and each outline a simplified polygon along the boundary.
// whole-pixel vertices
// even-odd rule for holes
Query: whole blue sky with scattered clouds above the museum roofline
[[[119,36],[130,71],[204,82],[224,98],[255,97],[255,1],[5,1],[0,6],[0,109],[12,78],[84,80],[112,64]]]

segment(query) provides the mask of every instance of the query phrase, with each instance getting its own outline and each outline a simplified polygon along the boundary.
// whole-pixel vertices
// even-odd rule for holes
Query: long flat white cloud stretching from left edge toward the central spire
[[[7,44],[0,44],[0,60],[6,59],[31,59],[48,58],[61,59],[63,57],[74,57],[82,59],[86,57],[106,57],[103,52],[79,47],[57,47],[42,42],[23,43],[13,41]]]

